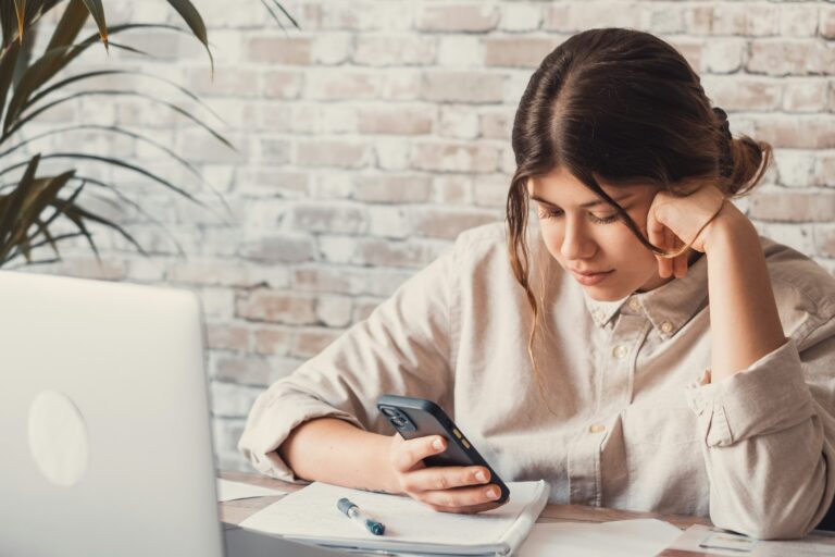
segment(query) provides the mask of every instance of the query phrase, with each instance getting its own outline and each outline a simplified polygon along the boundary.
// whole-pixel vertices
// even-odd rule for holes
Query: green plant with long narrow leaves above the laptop
[[[89,152],[76,152],[62,150],[60,152],[39,152],[32,157],[20,159],[22,149],[33,141],[49,135],[57,135],[73,131],[86,129],[101,134],[115,134],[132,137],[137,141],[147,143],[163,150],[189,172],[200,177],[198,170],[188,161],[178,157],[173,150],[160,143],[133,132],[124,126],[102,126],[79,123],[62,129],[53,129],[28,138],[22,138],[21,132],[26,125],[42,112],[68,102],[73,99],[90,96],[103,97],[137,97],[148,102],[161,103],[167,109],[185,116],[195,124],[201,126],[207,133],[213,135],[229,148],[234,147],[214,128],[196,117],[190,111],[179,104],[169,102],[153,95],[147,95],[124,89],[72,89],[78,82],[95,81],[103,76],[119,76],[139,74],[146,78],[165,82],[175,87],[179,94],[191,101],[200,102],[197,96],[187,89],[152,74],[130,72],[114,67],[112,70],[89,71],[76,75],[66,76],[64,71],[86,49],[103,42],[105,49],[122,49],[135,53],[145,52],[112,40],[112,37],[132,29],[164,29],[171,33],[185,33],[194,35],[202,45],[209,55],[209,61],[214,71],[214,61],[209,48],[209,39],[205,25],[200,13],[189,0],[166,0],[179,14],[188,28],[169,24],[134,23],[108,26],[104,9],[101,0],[68,0],[63,13],[52,33],[49,44],[43,52],[32,59],[32,45],[38,28],[38,23],[51,10],[63,3],[62,0],[0,0],[0,27],[2,27],[2,51],[0,51],[0,267],[23,258],[27,263],[48,262],[60,259],[58,243],[72,237],[86,238],[92,251],[98,257],[98,249],[88,228],[90,223],[96,223],[116,231],[126,238],[137,250],[145,253],[142,247],[134,237],[117,223],[85,209],[79,199],[82,193],[88,187],[102,188],[116,196],[120,202],[129,205],[140,213],[146,214],[141,207],[124,196],[120,190],[100,180],[84,176],[76,169],[67,169],[54,175],[42,175],[39,171],[41,161],[47,159],[84,161],[111,165],[135,172],[145,178],[164,186],[176,195],[183,196],[196,203],[201,203],[188,191],[176,186],[150,170],[140,165]],[[276,1],[261,0],[275,21],[282,25],[276,10],[284,14],[291,24],[298,24],[290,17],[286,10]],[[274,10],[275,8],[276,10]],[[98,34],[78,39],[85,23],[92,17]],[[60,79],[59,79],[60,77]],[[22,174],[21,174],[22,173]],[[21,174],[18,180],[9,180],[8,176]],[[64,232],[53,234],[53,225],[61,223]],[[41,246],[49,246],[54,253],[53,259],[34,261],[32,253]]]

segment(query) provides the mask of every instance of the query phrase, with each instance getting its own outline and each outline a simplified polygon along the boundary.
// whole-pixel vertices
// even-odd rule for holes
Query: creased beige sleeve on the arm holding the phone
[[[449,405],[454,255],[449,249],[366,320],[256,400],[238,443],[256,469],[298,482],[277,448],[296,426],[314,418],[338,418],[367,431],[390,433],[375,407],[382,394],[408,394]]]

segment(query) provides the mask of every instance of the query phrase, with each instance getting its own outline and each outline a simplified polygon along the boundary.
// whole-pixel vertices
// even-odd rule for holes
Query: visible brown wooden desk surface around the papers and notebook
[[[221,472],[221,478],[233,482],[244,482],[263,487],[273,487],[285,492],[295,492],[300,490],[301,485],[279,482],[265,475],[258,475],[244,472]],[[281,499],[275,497],[257,497],[252,499],[229,500],[220,503],[221,520],[227,524],[237,525],[251,515],[266,507],[267,505]],[[675,515],[659,515],[657,512],[633,512],[627,510],[614,510],[600,507],[587,507],[584,505],[548,505],[539,516],[537,522],[608,522],[611,520],[628,520],[636,518],[657,518],[665,520],[681,529],[686,529],[693,524],[710,525],[710,520],[700,517],[685,517]],[[681,553],[666,550],[665,557],[676,557],[677,555],[693,556],[691,553]]]

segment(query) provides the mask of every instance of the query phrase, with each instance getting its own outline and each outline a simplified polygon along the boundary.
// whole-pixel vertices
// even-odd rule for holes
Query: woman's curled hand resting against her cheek
[[[659,191],[647,213],[649,242],[670,251],[689,244],[696,251],[705,252],[710,225],[721,216],[720,213],[733,207],[724,201],[722,191],[712,184],[702,186],[686,197]],[[657,255],[661,277],[673,274],[676,278],[684,276],[687,272],[687,252],[685,249],[673,258]]]

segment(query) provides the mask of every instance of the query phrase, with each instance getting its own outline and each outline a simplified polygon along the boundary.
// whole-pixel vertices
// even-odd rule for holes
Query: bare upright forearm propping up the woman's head
[[[782,346],[771,280],[757,231],[725,203],[706,243],[710,299],[711,381],[740,371]]]

